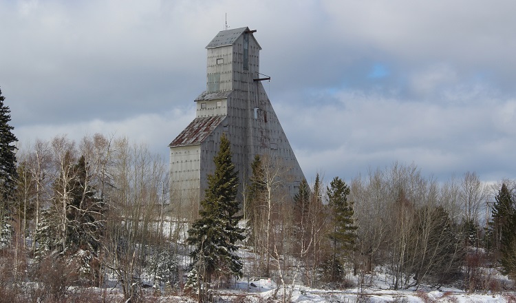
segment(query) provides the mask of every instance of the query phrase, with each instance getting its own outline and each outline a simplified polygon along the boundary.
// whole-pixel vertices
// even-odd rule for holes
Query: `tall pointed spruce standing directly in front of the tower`
[[[237,216],[238,177],[231,160],[230,143],[223,134],[220,150],[213,159],[215,173],[208,176],[206,198],[201,202],[200,218],[189,229],[188,244],[195,249],[191,253],[193,264],[187,286],[197,282],[211,282],[212,278],[242,275],[242,262],[237,251],[237,241],[245,239],[244,229],[238,227]],[[198,286],[198,285],[197,285]]]

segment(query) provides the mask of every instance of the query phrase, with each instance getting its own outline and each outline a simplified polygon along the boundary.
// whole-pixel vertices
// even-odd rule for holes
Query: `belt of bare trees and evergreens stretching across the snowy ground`
[[[206,198],[186,201],[200,211],[178,217],[168,162],[146,145],[61,135],[17,149],[0,98],[3,301],[105,300],[72,286],[115,287],[127,302],[145,301],[145,286],[206,295],[235,276],[270,278],[284,298],[294,284],[367,286],[380,271],[392,289],[502,291],[495,273],[516,277],[514,180],[439,182],[393,163],[349,184],[318,174],[291,197],[270,155],[238,180],[227,143]]]

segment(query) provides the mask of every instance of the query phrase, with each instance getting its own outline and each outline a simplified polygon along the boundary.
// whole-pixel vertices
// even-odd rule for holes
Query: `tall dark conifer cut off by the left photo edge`
[[[11,207],[17,182],[17,160],[14,143],[18,141],[12,134],[10,109],[3,104],[6,98],[0,90],[0,245],[9,241],[11,225]]]

